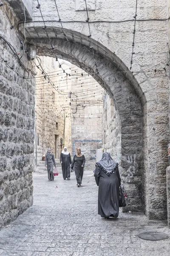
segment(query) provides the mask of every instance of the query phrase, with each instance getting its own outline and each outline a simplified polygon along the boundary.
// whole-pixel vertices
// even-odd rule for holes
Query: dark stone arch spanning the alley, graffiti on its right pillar
[[[34,32],[33,32],[34,31]],[[48,28],[54,44],[51,44],[41,27],[27,27],[27,40],[37,47],[38,55],[70,61],[81,67],[106,90],[113,99],[121,123],[122,162],[121,176],[129,195],[126,211],[142,211],[142,168],[143,168],[143,108],[146,102],[144,93],[133,74],[110,50],[89,39],[87,36],[65,29],[68,41],[60,28]],[[93,44],[93,51],[90,44]],[[96,64],[99,73],[96,73]],[[122,73],[117,73],[121,71]]]

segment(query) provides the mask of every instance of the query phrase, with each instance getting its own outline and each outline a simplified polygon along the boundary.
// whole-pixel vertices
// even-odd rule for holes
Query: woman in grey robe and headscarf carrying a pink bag
[[[48,181],[54,180],[53,166],[56,167],[54,154],[51,153],[51,148],[48,148],[48,151],[45,154],[45,167],[47,167],[48,170]]]

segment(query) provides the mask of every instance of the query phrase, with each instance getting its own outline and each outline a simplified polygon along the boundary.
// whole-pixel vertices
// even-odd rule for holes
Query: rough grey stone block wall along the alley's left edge
[[[4,8],[13,24],[18,20],[9,6]],[[20,41],[0,7],[0,35],[20,53],[21,61],[34,70],[20,48]],[[33,203],[34,79],[0,38],[0,228]],[[18,75],[17,75],[18,73]]]

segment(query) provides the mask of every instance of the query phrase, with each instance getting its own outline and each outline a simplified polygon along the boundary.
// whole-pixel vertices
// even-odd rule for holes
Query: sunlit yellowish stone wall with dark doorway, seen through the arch
[[[60,61],[62,63],[62,61]],[[36,131],[37,164],[51,147],[55,158],[59,158],[64,145],[71,152],[71,117],[68,92],[70,80],[61,72],[54,58],[41,57],[42,70],[37,69],[36,79]],[[62,63],[62,68],[69,70],[69,63]],[[58,75],[57,75],[58,74]],[[49,80],[48,80],[49,77]],[[63,81],[62,81],[63,80]],[[62,140],[65,138],[65,140]],[[39,143],[38,143],[39,140]],[[38,145],[39,144],[39,145]]]

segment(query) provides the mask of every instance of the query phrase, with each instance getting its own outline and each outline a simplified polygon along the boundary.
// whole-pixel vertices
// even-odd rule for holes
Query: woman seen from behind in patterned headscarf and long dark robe
[[[102,218],[117,218],[121,179],[118,163],[111,158],[108,152],[103,153],[102,160],[96,163],[94,177],[97,186],[99,186],[98,214]]]

